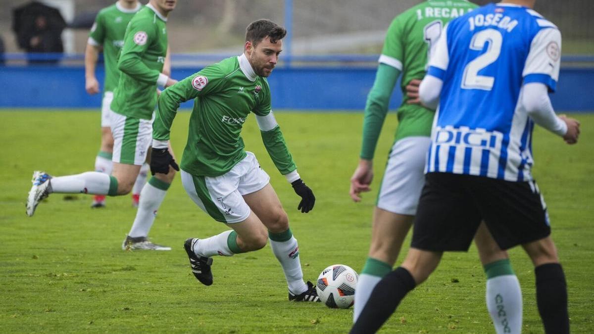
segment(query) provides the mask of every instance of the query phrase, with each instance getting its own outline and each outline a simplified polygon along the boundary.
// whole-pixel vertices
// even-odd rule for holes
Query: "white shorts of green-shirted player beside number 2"
[[[400,215],[416,214],[425,184],[429,144],[429,137],[406,137],[394,143],[381,181],[377,207]]]

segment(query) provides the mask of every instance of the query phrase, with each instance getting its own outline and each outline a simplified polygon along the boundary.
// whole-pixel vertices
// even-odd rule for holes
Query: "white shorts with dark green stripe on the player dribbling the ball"
[[[243,196],[270,182],[254,153],[246,153],[243,160],[218,177],[200,177],[181,171],[182,184],[189,197],[218,222],[238,223],[247,219],[251,209]]]

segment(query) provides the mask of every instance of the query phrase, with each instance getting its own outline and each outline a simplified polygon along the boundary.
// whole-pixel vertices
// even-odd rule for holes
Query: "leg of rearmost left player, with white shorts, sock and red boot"
[[[113,136],[111,133],[109,106],[113,100],[113,92],[105,92],[101,103],[101,146],[97,157],[95,158],[95,171],[105,174],[111,174],[112,171],[112,155],[113,155]],[[91,207],[104,207],[105,195],[93,196]]]

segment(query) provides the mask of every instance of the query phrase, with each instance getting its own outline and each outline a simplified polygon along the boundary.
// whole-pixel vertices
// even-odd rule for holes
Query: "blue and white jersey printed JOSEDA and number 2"
[[[426,172],[532,179],[522,85],[554,91],[560,58],[560,31],[529,8],[490,4],[451,21],[429,59],[443,89]]]

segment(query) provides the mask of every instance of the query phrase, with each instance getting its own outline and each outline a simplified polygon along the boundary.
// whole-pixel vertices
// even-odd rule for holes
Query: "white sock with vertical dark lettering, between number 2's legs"
[[[486,307],[497,334],[522,332],[522,290],[516,275],[487,279]]]

